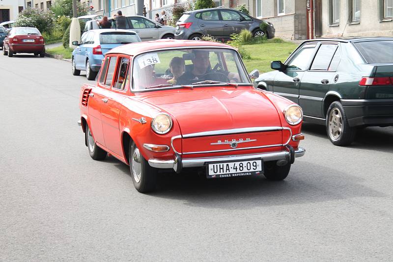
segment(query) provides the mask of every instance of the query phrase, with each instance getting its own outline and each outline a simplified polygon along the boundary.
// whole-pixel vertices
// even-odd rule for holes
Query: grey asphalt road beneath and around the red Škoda
[[[305,124],[283,182],[164,175],[92,160],[71,64],[0,56],[0,261],[393,261],[393,128],[351,147]]]

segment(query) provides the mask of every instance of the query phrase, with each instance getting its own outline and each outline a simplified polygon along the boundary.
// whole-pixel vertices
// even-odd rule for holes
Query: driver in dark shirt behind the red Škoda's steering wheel
[[[177,79],[177,84],[192,84],[204,80],[238,82],[238,74],[228,71],[213,71],[210,67],[209,52],[204,50],[193,50],[193,70],[185,72]]]

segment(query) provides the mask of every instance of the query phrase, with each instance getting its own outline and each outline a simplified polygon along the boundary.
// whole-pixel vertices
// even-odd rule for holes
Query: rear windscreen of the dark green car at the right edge
[[[366,63],[393,63],[393,41],[369,41],[354,43]]]

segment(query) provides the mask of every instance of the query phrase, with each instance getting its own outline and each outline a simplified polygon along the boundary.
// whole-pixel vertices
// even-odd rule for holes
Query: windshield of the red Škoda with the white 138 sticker
[[[176,49],[143,53],[134,59],[134,90],[220,82],[251,83],[234,50]]]

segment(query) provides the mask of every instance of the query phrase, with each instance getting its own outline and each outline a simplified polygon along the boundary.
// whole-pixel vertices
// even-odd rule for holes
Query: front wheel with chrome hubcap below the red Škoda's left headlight
[[[157,184],[157,169],[149,165],[134,142],[130,143],[128,152],[131,178],[135,189],[140,193],[153,191]]]

